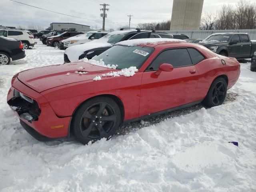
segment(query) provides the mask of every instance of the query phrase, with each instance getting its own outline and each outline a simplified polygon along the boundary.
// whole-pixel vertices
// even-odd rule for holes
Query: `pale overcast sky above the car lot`
[[[173,0],[16,0],[32,6],[87,18],[79,19],[64,16],[10,0],[0,0],[0,25],[3,26],[42,26],[47,28],[52,22],[73,22],[89,25],[91,28],[102,28],[100,3],[110,4],[105,28],[118,28],[127,25],[128,14],[133,15],[131,27],[141,22],[157,22],[171,17]],[[238,0],[204,0],[203,12],[216,11],[223,4],[236,5]],[[251,1],[252,2],[252,1]],[[92,21],[98,20],[98,21]]]

